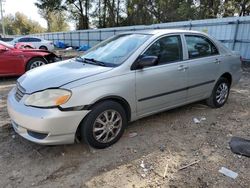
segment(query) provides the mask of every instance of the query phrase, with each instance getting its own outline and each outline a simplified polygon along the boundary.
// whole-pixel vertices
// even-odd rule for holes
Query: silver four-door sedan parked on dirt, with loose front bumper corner
[[[200,100],[222,107],[240,77],[240,56],[204,33],[124,33],[82,57],[27,72],[8,95],[8,112],[32,142],[78,138],[105,148],[145,116]]]

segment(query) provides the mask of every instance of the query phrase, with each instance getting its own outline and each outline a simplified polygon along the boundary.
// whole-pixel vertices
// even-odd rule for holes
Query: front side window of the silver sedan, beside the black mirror
[[[179,35],[167,36],[153,43],[143,56],[157,56],[158,64],[182,60],[182,44]]]

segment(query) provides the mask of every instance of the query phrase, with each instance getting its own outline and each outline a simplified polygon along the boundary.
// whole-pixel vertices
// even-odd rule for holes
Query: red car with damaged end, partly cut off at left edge
[[[47,50],[18,49],[0,41],[0,76],[19,76],[30,69],[59,60],[56,54]]]

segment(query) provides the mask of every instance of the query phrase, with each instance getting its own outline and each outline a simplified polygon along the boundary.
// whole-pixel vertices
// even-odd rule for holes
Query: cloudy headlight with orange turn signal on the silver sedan
[[[56,107],[66,103],[71,92],[65,89],[47,89],[36,92],[27,97],[24,104],[35,107]]]

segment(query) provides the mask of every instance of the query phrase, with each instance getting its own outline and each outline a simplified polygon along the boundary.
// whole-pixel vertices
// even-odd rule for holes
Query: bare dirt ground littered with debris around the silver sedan
[[[16,135],[6,111],[15,80],[0,80],[0,187],[250,187],[249,158],[228,145],[232,136],[250,139],[249,70],[224,107],[195,103],[141,119],[104,150],[40,146]],[[195,117],[206,120],[195,124]]]

